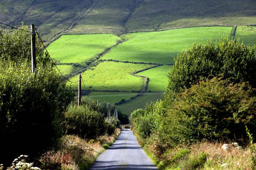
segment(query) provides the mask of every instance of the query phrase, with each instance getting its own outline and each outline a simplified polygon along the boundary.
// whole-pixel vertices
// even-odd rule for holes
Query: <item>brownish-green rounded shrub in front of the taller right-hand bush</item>
[[[163,119],[163,140],[177,144],[201,139],[239,139],[245,125],[256,130],[254,96],[246,83],[213,78],[177,94]],[[235,136],[234,136],[235,134]]]

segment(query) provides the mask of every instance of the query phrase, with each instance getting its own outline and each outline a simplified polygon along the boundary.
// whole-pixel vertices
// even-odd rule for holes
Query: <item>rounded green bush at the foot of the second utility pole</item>
[[[104,115],[91,109],[91,105],[70,106],[65,113],[67,134],[93,139],[105,133]]]

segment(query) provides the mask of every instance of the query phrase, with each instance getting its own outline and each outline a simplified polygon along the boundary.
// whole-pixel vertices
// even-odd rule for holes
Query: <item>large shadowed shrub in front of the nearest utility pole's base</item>
[[[34,74],[27,64],[1,60],[0,79],[0,136],[5,139],[2,152],[33,157],[57,142],[65,131],[63,112],[73,93],[55,70],[38,66]],[[25,140],[25,134],[33,140]],[[13,138],[19,139],[19,145]],[[35,141],[36,150],[31,147]]]

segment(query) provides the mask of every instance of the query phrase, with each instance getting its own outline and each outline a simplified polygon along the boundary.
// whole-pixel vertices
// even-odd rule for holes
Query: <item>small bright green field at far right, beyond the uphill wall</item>
[[[238,26],[236,28],[235,39],[240,38],[244,45],[253,46],[256,44],[256,26]]]

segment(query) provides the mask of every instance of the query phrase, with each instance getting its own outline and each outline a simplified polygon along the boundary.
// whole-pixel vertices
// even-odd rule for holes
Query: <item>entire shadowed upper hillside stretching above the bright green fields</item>
[[[255,8],[254,0],[1,0],[0,21],[35,23],[45,40],[55,40],[63,34],[256,25]]]

